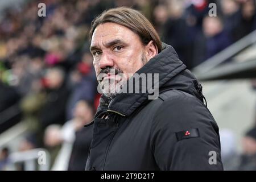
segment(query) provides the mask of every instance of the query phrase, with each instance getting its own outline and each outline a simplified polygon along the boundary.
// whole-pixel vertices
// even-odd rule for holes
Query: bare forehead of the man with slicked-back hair
[[[113,39],[131,42],[139,40],[139,36],[129,28],[117,23],[103,23],[98,25],[92,35],[91,46],[98,46],[100,43],[106,43]]]

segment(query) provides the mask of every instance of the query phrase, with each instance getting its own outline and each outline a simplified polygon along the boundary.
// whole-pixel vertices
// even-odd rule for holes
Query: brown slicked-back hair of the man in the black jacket
[[[139,11],[129,7],[117,7],[104,11],[93,20],[90,29],[90,39],[92,39],[95,28],[99,24],[107,22],[117,23],[129,28],[141,38],[141,42],[144,46],[152,40],[158,48],[158,52],[162,51],[162,43],[158,33],[147,18],[139,13]]]

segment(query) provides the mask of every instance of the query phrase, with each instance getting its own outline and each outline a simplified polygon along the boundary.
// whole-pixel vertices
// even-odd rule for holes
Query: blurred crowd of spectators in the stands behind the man
[[[38,16],[40,2],[46,17]],[[208,15],[209,3],[217,16]],[[28,132],[20,151],[47,148],[52,166],[68,151],[64,169],[84,169],[92,129],[83,126],[100,97],[88,32],[93,18],[118,6],[146,15],[188,69],[256,29],[254,0],[40,0],[10,7],[0,19],[0,115],[15,104],[22,113]]]

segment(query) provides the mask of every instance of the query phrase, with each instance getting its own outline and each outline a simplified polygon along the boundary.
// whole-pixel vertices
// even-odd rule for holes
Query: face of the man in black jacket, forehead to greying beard
[[[119,93],[122,85],[147,61],[139,36],[116,23],[98,25],[90,49],[97,80],[102,92],[110,97]]]

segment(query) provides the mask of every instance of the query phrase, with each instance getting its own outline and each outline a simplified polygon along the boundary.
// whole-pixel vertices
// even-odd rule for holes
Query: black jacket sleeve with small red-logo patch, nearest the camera
[[[218,126],[203,102],[189,94],[178,93],[160,105],[151,150],[160,170],[223,170]]]

